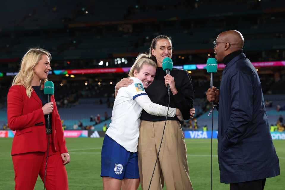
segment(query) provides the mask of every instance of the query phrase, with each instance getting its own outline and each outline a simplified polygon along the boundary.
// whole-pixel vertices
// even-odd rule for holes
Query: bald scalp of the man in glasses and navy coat
[[[218,35],[218,38],[219,41],[223,40],[224,42],[229,42],[233,46],[232,49],[235,49],[234,51],[237,49],[243,49],[243,35],[237,30],[222,32],[220,35]]]

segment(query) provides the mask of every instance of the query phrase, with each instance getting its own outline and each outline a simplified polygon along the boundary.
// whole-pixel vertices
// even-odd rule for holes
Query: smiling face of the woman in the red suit
[[[33,68],[34,78],[32,79],[32,86],[40,85],[40,81],[48,78],[48,72],[51,70],[50,59],[43,54],[40,61]]]

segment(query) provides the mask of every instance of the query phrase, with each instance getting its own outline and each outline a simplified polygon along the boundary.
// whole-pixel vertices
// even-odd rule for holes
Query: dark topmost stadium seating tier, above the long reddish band
[[[30,0],[2,1],[0,3],[4,29],[32,27],[64,27],[66,24],[82,24],[136,21],[148,19],[197,19],[232,15],[259,15],[265,12],[284,11],[282,0],[262,1],[199,1],[199,0],[156,0],[156,1],[92,1],[92,0]],[[218,7],[218,10],[217,10]],[[283,8],[283,10],[282,10]],[[19,19],[20,18],[20,19]],[[136,21],[138,22],[138,21]],[[106,24],[106,23],[105,23]],[[50,25],[50,26],[49,26]]]

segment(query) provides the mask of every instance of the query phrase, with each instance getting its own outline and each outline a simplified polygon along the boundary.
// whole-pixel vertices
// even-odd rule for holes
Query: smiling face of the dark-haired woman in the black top
[[[152,49],[152,55],[155,56],[157,66],[162,67],[162,61],[164,58],[172,56],[172,45],[171,41],[167,39],[160,39],[157,41],[155,49]]]

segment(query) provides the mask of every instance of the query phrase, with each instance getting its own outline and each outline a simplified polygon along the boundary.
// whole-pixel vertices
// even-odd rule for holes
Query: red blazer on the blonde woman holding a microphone
[[[68,151],[53,95],[51,101],[53,102],[51,127],[54,149],[62,154]],[[22,85],[10,87],[7,97],[7,119],[10,129],[16,131],[11,155],[47,150],[45,117],[41,108],[42,101],[36,92],[33,91],[29,98]]]

